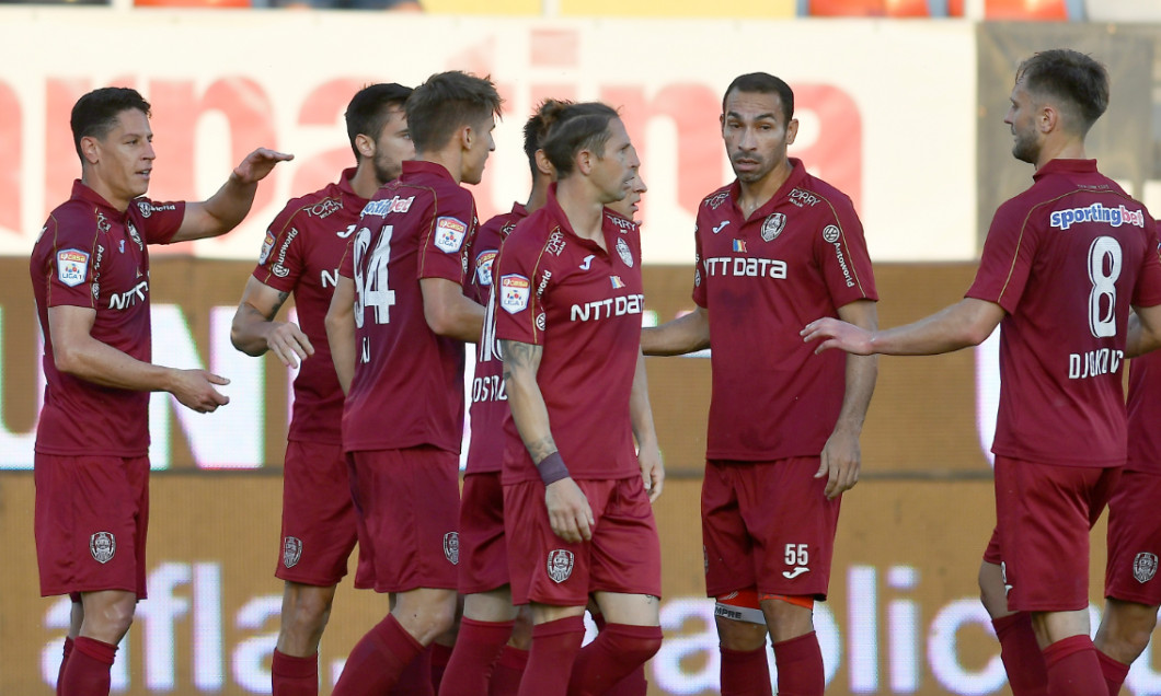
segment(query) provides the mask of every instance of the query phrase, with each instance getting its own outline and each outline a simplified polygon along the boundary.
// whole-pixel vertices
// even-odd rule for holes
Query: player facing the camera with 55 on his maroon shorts
[[[878,296],[851,200],[787,157],[789,86],[738,77],[721,128],[737,179],[698,206],[697,306],[647,328],[642,349],[712,348],[701,520],[722,694],[770,694],[767,631],[779,693],[822,694],[813,609],[827,597],[841,495],[858,480],[877,363],[813,355],[798,332],[823,314],[873,328]]]

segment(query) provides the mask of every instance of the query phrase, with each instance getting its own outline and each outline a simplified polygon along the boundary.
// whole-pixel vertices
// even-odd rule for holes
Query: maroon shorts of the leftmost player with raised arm
[[[144,600],[149,457],[34,462],[41,595],[121,589]]]

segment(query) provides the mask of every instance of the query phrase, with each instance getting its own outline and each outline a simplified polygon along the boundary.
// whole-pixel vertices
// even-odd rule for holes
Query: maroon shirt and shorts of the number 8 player
[[[1161,304],[1161,262],[1152,218],[1095,160],[1052,160],[1033,179],[996,211],[967,291],[1007,312],[1000,558],[986,560],[1002,560],[1011,610],[1065,611],[1088,606],[1088,530],[1126,456],[1128,307]]]

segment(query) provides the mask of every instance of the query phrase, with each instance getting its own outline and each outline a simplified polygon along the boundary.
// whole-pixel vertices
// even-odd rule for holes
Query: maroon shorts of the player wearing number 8
[[[1088,607],[1089,530],[1119,477],[1120,467],[996,456],[996,530],[1010,610]]]

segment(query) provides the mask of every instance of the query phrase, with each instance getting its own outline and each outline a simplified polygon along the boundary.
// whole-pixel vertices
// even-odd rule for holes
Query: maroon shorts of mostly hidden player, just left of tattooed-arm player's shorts
[[[500,472],[469,473],[463,477],[460,499],[460,594],[489,592],[507,583]]]

